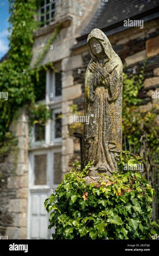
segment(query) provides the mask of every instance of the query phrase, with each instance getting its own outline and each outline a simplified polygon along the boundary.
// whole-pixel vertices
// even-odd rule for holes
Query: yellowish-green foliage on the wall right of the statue
[[[141,99],[138,98],[139,90],[143,87],[145,61],[140,74],[132,78],[123,73],[123,103],[122,103],[122,133],[130,140],[130,144],[140,147],[142,130],[147,133],[147,139],[151,150],[159,150],[158,126],[156,125],[157,114],[139,112]],[[155,106],[154,106],[155,107]]]

